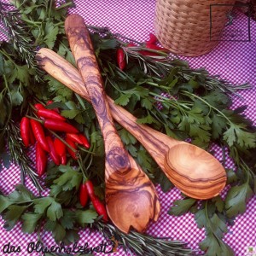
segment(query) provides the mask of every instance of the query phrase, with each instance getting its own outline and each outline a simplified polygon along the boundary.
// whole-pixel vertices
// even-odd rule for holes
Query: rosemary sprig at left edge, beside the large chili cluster
[[[15,125],[15,122],[12,119],[6,127],[6,135],[8,137],[11,160],[16,165],[20,166],[20,183],[25,183],[25,176],[27,175],[30,177],[38,191],[42,191],[43,188],[38,181],[38,174],[34,172],[34,169],[32,168],[32,160],[25,154],[24,149],[21,146],[20,128]]]

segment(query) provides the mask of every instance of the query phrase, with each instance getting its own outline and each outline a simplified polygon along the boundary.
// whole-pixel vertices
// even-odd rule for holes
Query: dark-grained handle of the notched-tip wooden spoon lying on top
[[[65,30],[86,90],[96,111],[99,125],[102,128],[105,151],[106,153],[114,151],[115,154],[126,154],[125,157],[127,158],[127,152],[113,124],[107,96],[102,86],[102,76],[99,73],[90,34],[84,24],[84,19],[79,15],[69,15],[65,22]],[[112,158],[113,155],[107,155],[107,157]]]

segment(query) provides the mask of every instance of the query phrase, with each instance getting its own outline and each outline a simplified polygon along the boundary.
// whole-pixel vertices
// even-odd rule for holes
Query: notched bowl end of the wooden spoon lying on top
[[[116,173],[106,179],[108,215],[117,227],[122,227],[123,231],[130,230],[131,223],[135,230],[145,230],[150,221],[150,215],[148,215],[148,211],[145,212],[145,209],[155,208],[151,186],[138,189],[142,185],[141,180],[145,177],[143,173],[138,177],[137,171],[137,169],[131,169],[129,175],[125,175],[122,179]],[[116,183],[117,180],[119,183]],[[128,185],[128,183],[130,184]],[[147,184],[145,183],[145,185]],[[154,216],[154,212],[151,214]],[[156,221],[157,217],[158,214],[153,220]]]

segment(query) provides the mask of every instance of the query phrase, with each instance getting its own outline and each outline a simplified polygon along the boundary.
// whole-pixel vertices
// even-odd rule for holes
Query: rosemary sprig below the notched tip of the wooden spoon
[[[153,236],[143,235],[136,231],[124,234],[117,230],[113,224],[95,222],[92,228],[99,231],[106,239],[117,241],[119,246],[131,250],[137,255],[148,256],[178,256],[194,255],[192,249],[186,247],[182,241],[171,241],[168,238],[156,238]]]

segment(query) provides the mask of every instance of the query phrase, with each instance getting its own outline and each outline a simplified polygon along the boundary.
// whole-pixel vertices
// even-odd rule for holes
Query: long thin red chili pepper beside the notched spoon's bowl
[[[98,197],[95,195],[94,189],[93,189],[93,183],[90,180],[87,180],[84,183],[84,185],[87,189],[88,195],[90,196],[90,200],[92,202],[92,205],[96,209],[96,212],[99,215],[102,215],[102,219],[107,222],[108,221],[108,213],[107,213],[106,207],[104,206],[102,201],[100,201],[98,199]]]

